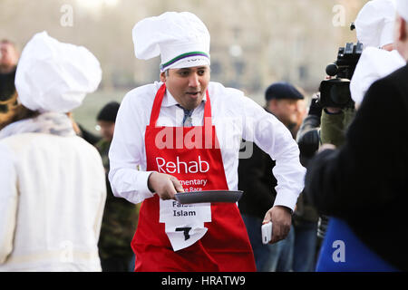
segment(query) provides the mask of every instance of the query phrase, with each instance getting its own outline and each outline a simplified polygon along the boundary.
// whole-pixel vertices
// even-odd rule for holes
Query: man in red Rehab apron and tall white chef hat
[[[145,18],[132,34],[137,58],[161,58],[160,82],[121,102],[109,152],[113,194],[143,201],[135,271],[255,271],[235,202],[180,204],[175,195],[237,190],[240,140],[254,141],[277,160],[277,198],[265,215],[277,242],[304,186],[295,140],[243,92],[209,81],[209,31],[195,14]]]

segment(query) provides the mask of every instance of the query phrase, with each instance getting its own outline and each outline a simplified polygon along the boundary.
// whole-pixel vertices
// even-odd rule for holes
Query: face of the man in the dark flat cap
[[[287,127],[297,123],[298,105],[297,100],[292,99],[272,99],[267,106],[268,111],[273,113],[277,119]]]

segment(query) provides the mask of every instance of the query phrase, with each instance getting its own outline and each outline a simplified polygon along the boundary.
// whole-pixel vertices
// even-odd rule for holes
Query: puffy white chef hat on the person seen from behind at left
[[[20,102],[33,111],[67,112],[98,88],[102,70],[83,46],[60,43],[46,32],[25,45],[15,73]]]

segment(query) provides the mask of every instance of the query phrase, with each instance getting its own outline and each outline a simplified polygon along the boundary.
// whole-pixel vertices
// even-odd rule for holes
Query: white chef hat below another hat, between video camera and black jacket
[[[376,47],[364,49],[350,82],[352,99],[357,106],[363,102],[364,94],[373,82],[387,74],[393,73],[393,71],[403,67],[405,64],[405,60],[396,50],[388,52]]]

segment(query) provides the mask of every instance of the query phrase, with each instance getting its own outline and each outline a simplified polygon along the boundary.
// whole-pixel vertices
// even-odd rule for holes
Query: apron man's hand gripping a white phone
[[[272,221],[272,239],[269,244],[274,244],[287,237],[292,225],[291,210],[283,206],[270,208],[262,224]]]

